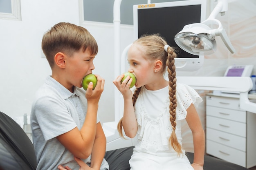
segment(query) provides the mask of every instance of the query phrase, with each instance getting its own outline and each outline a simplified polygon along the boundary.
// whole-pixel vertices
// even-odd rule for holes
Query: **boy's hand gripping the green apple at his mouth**
[[[99,99],[101,97],[101,93],[104,90],[104,84],[105,84],[105,80],[100,77],[99,75],[95,75],[95,77],[97,77],[97,85],[94,88],[94,90],[92,90],[93,88],[93,84],[92,82],[89,83],[88,88],[86,90],[85,93],[85,97],[88,100],[88,102],[99,102]]]

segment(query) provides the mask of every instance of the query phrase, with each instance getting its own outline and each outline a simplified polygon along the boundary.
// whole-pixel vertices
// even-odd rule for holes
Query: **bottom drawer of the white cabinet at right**
[[[206,141],[206,146],[207,154],[246,167],[245,152],[209,140]]]

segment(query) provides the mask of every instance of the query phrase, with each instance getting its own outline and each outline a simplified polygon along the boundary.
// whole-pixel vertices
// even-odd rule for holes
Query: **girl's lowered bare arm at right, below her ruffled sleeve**
[[[191,104],[186,111],[186,121],[192,131],[194,144],[194,161],[192,163],[192,167],[195,170],[203,170],[205,149],[204,129],[202,128],[195,106]]]

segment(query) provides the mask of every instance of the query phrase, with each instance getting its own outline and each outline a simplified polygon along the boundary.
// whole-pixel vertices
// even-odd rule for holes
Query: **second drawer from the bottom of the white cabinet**
[[[245,137],[239,137],[219,130],[207,128],[206,139],[246,152]]]

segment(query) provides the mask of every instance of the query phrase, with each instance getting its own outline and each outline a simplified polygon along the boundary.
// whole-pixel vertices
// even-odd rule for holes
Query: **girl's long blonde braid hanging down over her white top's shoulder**
[[[168,59],[167,59],[167,71],[168,71],[168,78],[169,78],[169,95],[170,95],[170,106],[169,106],[169,113],[170,113],[170,121],[173,128],[171,133],[171,137],[169,138],[169,142],[173,149],[178,153],[178,155],[182,154],[182,147],[177,140],[177,136],[175,133],[176,129],[176,107],[177,107],[177,99],[176,99],[176,71],[174,65],[174,58],[176,54],[173,52],[171,47],[167,48]]]

